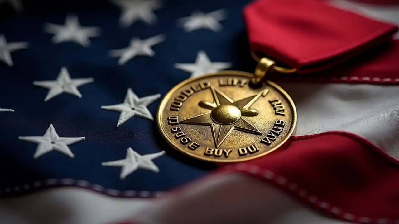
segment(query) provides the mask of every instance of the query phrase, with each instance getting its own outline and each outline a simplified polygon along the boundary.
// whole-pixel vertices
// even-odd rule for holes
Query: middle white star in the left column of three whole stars
[[[34,81],[33,84],[35,86],[41,86],[43,88],[49,89],[47,96],[44,98],[44,101],[47,102],[47,100],[49,100],[55,96],[58,96],[59,94],[61,94],[63,92],[81,98],[82,94],[79,92],[77,87],[83,86],[84,84],[92,83],[92,82],[94,82],[93,78],[71,79],[67,68],[62,67],[56,80],[54,80],[54,81],[53,80],[51,80],[51,81]]]

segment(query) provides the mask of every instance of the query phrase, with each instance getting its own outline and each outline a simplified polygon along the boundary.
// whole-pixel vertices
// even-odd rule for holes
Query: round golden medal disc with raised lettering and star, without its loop
[[[158,108],[162,136],[182,153],[215,163],[255,159],[281,147],[295,130],[294,103],[275,83],[251,87],[252,77],[223,71],[178,84]]]

